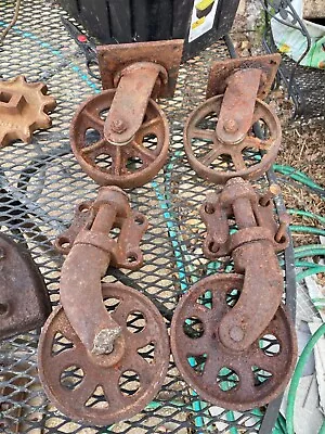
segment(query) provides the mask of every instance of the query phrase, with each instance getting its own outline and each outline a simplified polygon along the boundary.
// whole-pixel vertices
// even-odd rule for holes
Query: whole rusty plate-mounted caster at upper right
[[[213,65],[207,95],[210,97],[187,118],[184,149],[193,169],[203,178],[225,183],[234,177],[257,179],[276,158],[281,144],[281,125],[264,98],[278,67],[278,56],[263,62],[246,59]],[[220,76],[222,80],[216,80]],[[216,88],[216,89],[214,89]],[[212,90],[214,89],[214,90]],[[222,91],[222,94],[219,92]],[[263,126],[266,138],[256,137],[253,125]],[[251,163],[244,158],[248,151],[262,151],[262,158]]]

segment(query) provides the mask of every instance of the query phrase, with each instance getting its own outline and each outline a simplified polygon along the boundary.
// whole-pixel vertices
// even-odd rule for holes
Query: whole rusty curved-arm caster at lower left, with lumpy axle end
[[[139,243],[146,228],[146,218],[131,210],[122,190],[103,187],[95,201],[78,205],[72,227],[56,240],[58,251],[67,254],[60,281],[62,307],[42,330],[39,372],[50,399],[74,420],[104,425],[131,418],[164,381],[169,347],[162,317],[131,288],[101,282],[109,265],[139,269]],[[133,333],[132,315],[145,322]],[[70,343],[66,354],[55,354],[57,333]],[[141,357],[148,344],[154,346],[152,366]],[[74,369],[82,371],[83,380],[72,391],[62,379]],[[123,392],[122,384],[132,383],[126,374],[130,370],[140,385]],[[96,387],[104,391],[100,407],[93,404]]]

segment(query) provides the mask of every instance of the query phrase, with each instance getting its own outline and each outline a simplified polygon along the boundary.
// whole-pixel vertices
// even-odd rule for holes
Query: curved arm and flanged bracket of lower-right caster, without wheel
[[[282,233],[281,242],[276,241],[283,227],[273,218],[270,194],[259,197],[242,178],[227,181],[220,194],[208,199],[200,214],[207,226],[206,256],[216,258],[232,254],[235,271],[245,275],[240,298],[219,328],[226,347],[244,350],[266,328],[281,304],[283,277],[275,252],[285,248],[288,237]],[[231,235],[230,218],[238,228]]]

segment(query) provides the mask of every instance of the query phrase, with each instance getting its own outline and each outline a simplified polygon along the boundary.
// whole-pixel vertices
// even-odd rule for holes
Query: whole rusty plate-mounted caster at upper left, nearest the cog
[[[70,127],[74,154],[99,184],[140,187],[164,166],[169,128],[154,100],[173,94],[182,47],[174,40],[99,48],[105,90],[80,106]]]

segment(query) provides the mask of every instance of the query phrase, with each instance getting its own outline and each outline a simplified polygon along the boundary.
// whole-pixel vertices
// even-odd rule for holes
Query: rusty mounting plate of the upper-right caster
[[[227,78],[237,71],[258,68],[262,71],[258,98],[263,100],[270,92],[280,63],[281,54],[278,53],[218,61],[210,68],[207,99],[223,94],[227,86]]]

